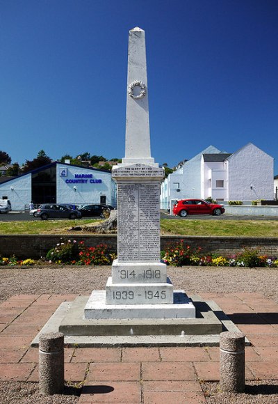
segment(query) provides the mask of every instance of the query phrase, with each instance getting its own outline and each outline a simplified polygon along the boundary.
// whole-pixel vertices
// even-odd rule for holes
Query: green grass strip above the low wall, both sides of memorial
[[[0,235],[8,234],[80,234],[69,232],[72,226],[97,222],[82,220],[35,220],[30,222],[1,222]],[[82,232],[84,234],[85,232]],[[92,234],[92,233],[90,233]],[[278,237],[275,220],[191,220],[161,219],[162,235],[224,235],[236,237]]]

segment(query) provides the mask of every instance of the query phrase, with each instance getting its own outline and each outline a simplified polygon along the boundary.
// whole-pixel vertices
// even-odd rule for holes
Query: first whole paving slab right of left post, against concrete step
[[[121,348],[76,348],[72,363],[120,362]]]

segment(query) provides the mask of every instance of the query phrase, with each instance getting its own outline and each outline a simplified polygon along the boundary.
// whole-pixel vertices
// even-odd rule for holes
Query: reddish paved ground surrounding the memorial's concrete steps
[[[0,380],[38,381],[29,344],[74,295],[15,295],[0,304]],[[278,379],[278,304],[257,293],[212,294],[252,342],[247,380]],[[84,382],[79,403],[206,403],[202,381],[219,380],[219,348],[65,348],[65,380]]]

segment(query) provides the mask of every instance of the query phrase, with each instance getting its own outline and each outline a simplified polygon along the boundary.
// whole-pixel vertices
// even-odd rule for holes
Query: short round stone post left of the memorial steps
[[[39,339],[40,394],[50,396],[64,389],[64,335],[41,334]]]

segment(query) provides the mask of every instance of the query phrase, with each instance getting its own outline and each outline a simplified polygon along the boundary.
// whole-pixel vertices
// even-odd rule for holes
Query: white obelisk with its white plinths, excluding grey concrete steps
[[[161,263],[160,183],[151,157],[145,31],[129,31],[126,142],[117,182],[117,259],[106,290],[94,290],[85,318],[195,318],[183,290],[173,290]]]

